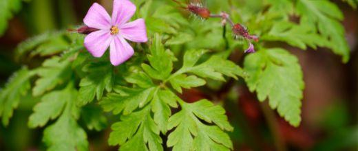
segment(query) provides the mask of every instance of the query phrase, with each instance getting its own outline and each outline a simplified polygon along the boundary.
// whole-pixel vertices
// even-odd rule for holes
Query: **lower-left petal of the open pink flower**
[[[101,57],[105,54],[105,50],[108,48],[112,39],[112,35],[109,31],[98,30],[86,36],[85,47],[92,56]]]

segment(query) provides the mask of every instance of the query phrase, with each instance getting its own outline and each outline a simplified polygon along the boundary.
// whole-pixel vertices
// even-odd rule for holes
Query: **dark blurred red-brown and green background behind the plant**
[[[21,10],[8,21],[8,27],[0,37],[1,87],[11,73],[21,67],[22,60],[15,61],[13,57],[17,44],[44,32],[81,25],[87,9],[94,2],[23,1]],[[111,10],[111,0],[96,2]],[[358,11],[341,1],[335,3],[344,12],[343,24],[351,48],[350,61],[342,64],[339,56],[327,49],[291,49],[299,57],[306,82],[302,124],[298,128],[287,124],[266,104],[257,102],[255,95],[245,86],[235,87],[233,102],[225,105],[229,120],[235,127],[231,133],[235,150],[358,150]],[[39,62],[31,64],[36,63]],[[187,91],[184,97],[197,100],[203,95],[194,89]],[[238,100],[234,95],[238,95]],[[9,126],[0,124],[0,150],[45,150],[41,143],[43,129],[27,126],[35,103],[36,100],[22,100]],[[109,128],[103,132],[87,132],[91,150],[116,150],[107,145]]]

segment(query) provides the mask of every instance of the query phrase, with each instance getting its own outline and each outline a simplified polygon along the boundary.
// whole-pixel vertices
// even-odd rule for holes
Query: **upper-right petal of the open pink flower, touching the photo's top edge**
[[[117,27],[127,23],[136,12],[136,5],[128,0],[114,0],[112,12],[112,25]]]

